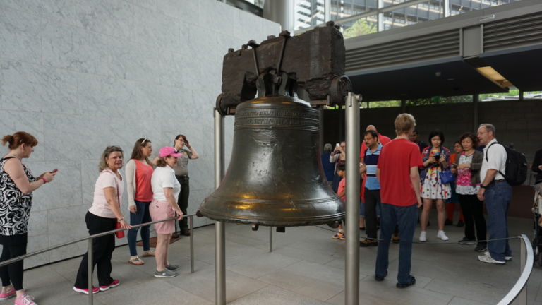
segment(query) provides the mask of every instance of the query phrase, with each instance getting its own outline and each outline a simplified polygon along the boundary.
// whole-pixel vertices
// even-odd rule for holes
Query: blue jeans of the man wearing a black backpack
[[[506,181],[493,182],[484,192],[486,209],[488,210],[489,239],[508,237],[508,207],[512,200],[512,186]],[[508,240],[488,242],[491,257],[497,261],[505,261],[505,256],[512,256]]]

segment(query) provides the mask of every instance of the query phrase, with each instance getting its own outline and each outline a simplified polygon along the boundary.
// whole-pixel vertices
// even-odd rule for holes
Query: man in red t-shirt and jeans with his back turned
[[[380,181],[382,211],[375,280],[384,280],[387,275],[390,239],[397,225],[401,233],[397,274],[399,288],[416,283],[416,278],[410,274],[411,243],[418,220],[418,208],[421,207],[418,167],[422,165],[422,161],[418,145],[409,140],[409,134],[415,126],[416,120],[411,114],[397,116],[395,119],[397,138],[383,146],[376,170],[376,177]]]

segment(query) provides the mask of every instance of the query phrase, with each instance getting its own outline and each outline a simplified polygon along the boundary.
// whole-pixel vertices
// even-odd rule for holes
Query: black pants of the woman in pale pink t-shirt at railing
[[[115,218],[100,217],[90,212],[85,215],[85,222],[90,235],[111,231],[116,226]],[[114,249],[115,234],[97,237],[92,241],[92,258],[94,261],[92,268],[97,265],[98,284],[100,286],[107,286],[113,282],[111,277],[111,257]],[[85,253],[83,260],[81,260],[74,286],[80,289],[88,288],[88,252]]]

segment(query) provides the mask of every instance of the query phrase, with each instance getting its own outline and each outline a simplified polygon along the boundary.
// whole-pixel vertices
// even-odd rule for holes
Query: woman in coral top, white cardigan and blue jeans
[[[140,225],[150,222],[149,205],[152,201],[152,163],[149,160],[152,154],[152,145],[147,138],[140,138],[133,145],[131,159],[126,162],[126,190],[128,193],[128,209],[130,210],[130,225]],[[143,256],[155,256],[150,249],[150,225],[141,227],[141,241],[143,242]],[[128,231],[128,248],[132,265],[143,265],[145,262],[138,256],[136,239],[138,228]]]

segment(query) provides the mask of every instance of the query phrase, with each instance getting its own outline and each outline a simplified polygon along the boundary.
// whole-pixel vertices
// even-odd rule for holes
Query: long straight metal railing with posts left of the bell
[[[184,215],[184,217],[188,217],[188,227],[190,228],[190,272],[191,273],[194,273],[194,232],[193,232],[193,217],[195,216],[195,214],[190,214],[190,215]],[[138,227],[144,227],[144,226],[147,226],[147,225],[152,225],[152,224],[155,224],[155,223],[159,223],[159,222],[165,222],[165,221],[169,221],[169,220],[176,220],[176,218],[174,217],[171,217],[171,218],[168,218],[168,219],[165,219],[165,220],[157,220],[157,221],[153,221],[153,222],[145,222],[143,224],[140,224],[140,225],[133,225],[131,226],[132,228],[138,228]],[[8,264],[11,264],[11,263],[15,263],[15,262],[18,262],[18,261],[21,261],[25,258],[30,258],[32,256],[37,256],[38,254],[41,254],[41,253],[45,253],[45,252],[48,252],[48,251],[52,251],[54,249],[59,249],[61,247],[64,247],[64,246],[69,246],[71,244],[76,244],[80,241],[88,241],[88,304],[89,305],[92,305],[94,304],[93,303],[93,300],[92,300],[92,270],[94,269],[94,258],[92,258],[92,240],[95,239],[96,237],[102,237],[102,236],[105,236],[105,235],[109,235],[109,234],[114,234],[115,232],[120,232],[120,231],[124,231],[126,229],[114,229],[114,230],[111,230],[111,231],[107,231],[107,232],[102,232],[102,233],[98,233],[98,234],[94,234],[94,235],[90,235],[89,237],[82,237],[80,239],[76,239],[76,240],[73,240],[73,241],[68,241],[67,243],[64,243],[64,244],[59,244],[59,245],[56,245],[56,246],[50,246],[49,248],[46,248],[46,249],[42,249],[42,250],[38,250],[38,251],[34,251],[34,252],[31,252],[31,253],[28,253],[28,254],[25,254],[25,255],[22,255],[22,256],[17,256],[16,258],[11,258],[11,259],[8,259],[7,261],[3,261],[0,263],[0,267],[4,266],[4,265],[8,265]]]

